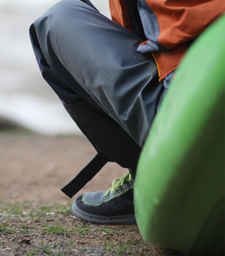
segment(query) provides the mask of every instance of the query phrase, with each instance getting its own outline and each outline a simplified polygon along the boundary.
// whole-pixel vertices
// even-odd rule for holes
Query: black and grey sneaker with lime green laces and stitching
[[[72,205],[72,213],[85,222],[136,224],[130,173],[115,179],[108,191],[89,192],[77,197]]]

